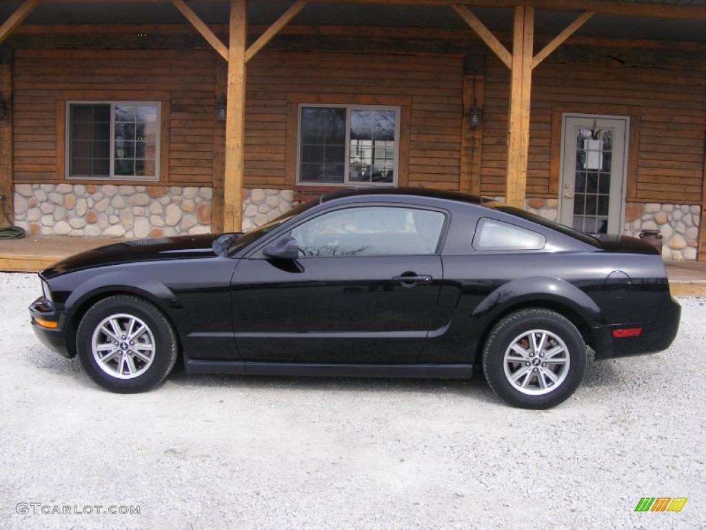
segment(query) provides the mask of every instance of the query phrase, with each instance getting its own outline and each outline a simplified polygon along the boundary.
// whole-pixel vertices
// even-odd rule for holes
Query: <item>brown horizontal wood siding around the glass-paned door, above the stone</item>
[[[487,62],[481,193],[504,195],[509,74]],[[549,182],[552,107],[637,117],[636,175],[628,200],[698,204],[706,131],[706,75],[545,62],[532,76],[527,195],[554,197]],[[556,183],[554,183],[556,187]]]

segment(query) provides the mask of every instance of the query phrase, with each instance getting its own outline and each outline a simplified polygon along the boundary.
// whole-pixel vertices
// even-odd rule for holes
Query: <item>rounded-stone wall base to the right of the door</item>
[[[628,203],[625,233],[637,237],[642,230],[659,230],[664,259],[697,259],[701,208],[694,204]]]

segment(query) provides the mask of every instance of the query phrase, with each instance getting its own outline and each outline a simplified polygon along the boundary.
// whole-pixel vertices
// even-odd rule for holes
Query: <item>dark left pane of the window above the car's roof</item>
[[[345,108],[302,107],[300,182],[344,182]]]

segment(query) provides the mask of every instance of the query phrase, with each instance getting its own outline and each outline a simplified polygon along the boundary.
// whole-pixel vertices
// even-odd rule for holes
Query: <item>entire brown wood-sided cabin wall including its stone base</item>
[[[306,42],[311,45],[311,39]],[[297,110],[302,103],[400,107],[400,185],[504,195],[509,88],[505,66],[485,50],[483,69],[474,70],[479,74],[483,124],[473,130],[476,143],[469,156],[464,105],[470,78],[464,62],[477,55],[471,51],[477,47],[457,42],[453,51],[432,51],[434,45],[429,45],[429,51],[412,53],[402,52],[404,45],[385,42],[385,51],[360,46],[356,53],[346,51],[352,49],[350,43],[345,49],[317,52],[285,51],[273,42],[249,62],[244,228],[286,210],[294,193],[304,188],[296,182]],[[214,119],[215,98],[225,86],[222,59],[210,49],[44,47],[14,49],[16,218],[35,231],[76,235],[112,230],[113,235],[143,237],[217,230],[217,223],[210,223],[210,208],[212,204],[217,208],[222,189],[224,126]],[[627,116],[630,145],[623,231],[636,235],[642,228],[661,229],[669,240],[665,257],[695,259],[705,167],[706,72],[700,60],[704,52],[700,48],[695,54],[673,52],[669,63],[660,63],[659,48],[644,53],[586,49],[563,47],[533,72],[527,208],[549,218],[558,215],[563,112]],[[621,53],[638,57],[639,64],[614,59]],[[110,182],[107,189],[105,181],[81,182],[79,187],[87,187],[88,206],[77,195],[64,197],[68,204],[59,208],[67,216],[83,216],[83,224],[74,220],[67,226],[61,209],[42,211],[37,218],[37,187],[47,187],[40,190],[47,192],[40,193],[40,201],[54,194],[58,206],[61,198],[56,194],[69,194],[67,186],[77,185],[63,175],[65,101],[117,96],[162,101],[166,134],[160,180]],[[117,191],[114,184],[119,184]],[[111,199],[109,203],[118,206],[109,206],[109,211],[95,212],[90,206],[104,205],[106,195],[116,194],[124,194],[124,200]],[[124,201],[133,206],[130,215],[121,211]],[[78,202],[80,210],[69,208]],[[54,226],[45,227],[47,223]]]

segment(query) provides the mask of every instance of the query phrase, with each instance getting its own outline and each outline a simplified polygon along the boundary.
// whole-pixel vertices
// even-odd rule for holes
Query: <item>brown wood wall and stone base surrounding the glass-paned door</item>
[[[679,61],[669,68],[635,68],[569,57],[575,62],[548,60],[533,72],[526,208],[559,218],[563,113],[625,116],[630,129],[622,233],[659,230],[665,259],[698,259],[706,71],[678,69]],[[489,196],[504,195],[508,82],[503,64],[486,61],[480,189]],[[701,240],[706,247],[706,237]]]

